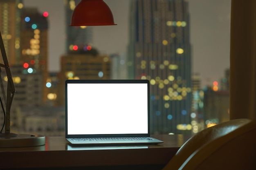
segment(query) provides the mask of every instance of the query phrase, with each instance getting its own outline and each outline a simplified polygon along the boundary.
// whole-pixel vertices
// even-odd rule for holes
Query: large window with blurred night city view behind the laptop
[[[42,105],[35,107],[45,114],[49,111],[43,108],[62,108],[60,112],[65,114],[63,82],[67,78],[139,78],[148,79],[151,84],[152,134],[197,133],[229,119],[231,0],[104,0],[117,26],[73,30],[68,24],[74,4],[80,0],[22,2],[22,6],[20,0],[0,2],[5,3],[0,6],[3,10],[17,3],[19,28],[11,26],[9,20],[2,21],[19,32],[16,41],[8,40],[11,31],[7,27],[0,27],[0,31],[6,37],[7,55],[19,59],[9,58],[11,70],[13,65],[21,65],[15,73],[31,76],[27,86],[40,89],[35,95]],[[28,11],[27,7],[34,9]],[[46,17],[45,11],[49,14]],[[10,44],[16,44],[13,50]],[[82,52],[78,50],[81,46]],[[16,55],[11,51],[16,51]],[[69,54],[72,57],[68,58]],[[27,68],[23,68],[24,63],[28,64]],[[16,86],[19,95],[24,93],[18,91],[27,87],[22,84],[27,80],[22,78],[21,85]],[[48,88],[47,82],[55,85]],[[52,97],[47,98],[48,94]],[[14,96],[12,107],[20,106],[19,102]],[[25,111],[20,109],[24,120],[33,115]],[[59,115],[51,116],[56,120]],[[63,126],[58,122],[63,121],[54,124]],[[45,135],[48,131],[40,129]],[[63,134],[62,129],[59,135]]]

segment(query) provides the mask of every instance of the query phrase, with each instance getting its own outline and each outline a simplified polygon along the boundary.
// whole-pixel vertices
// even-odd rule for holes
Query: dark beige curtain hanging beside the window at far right
[[[256,0],[231,0],[230,119],[256,119]]]

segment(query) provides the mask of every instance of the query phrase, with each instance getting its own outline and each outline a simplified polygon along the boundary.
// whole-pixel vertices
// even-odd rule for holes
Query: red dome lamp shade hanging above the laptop
[[[112,12],[103,0],[81,0],[75,7],[70,26],[116,25]]]

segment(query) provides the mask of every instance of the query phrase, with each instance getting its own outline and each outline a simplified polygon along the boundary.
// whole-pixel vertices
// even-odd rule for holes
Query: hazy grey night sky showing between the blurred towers
[[[49,72],[60,71],[65,54],[65,0],[24,0],[24,7],[49,12]],[[128,45],[130,0],[104,0],[112,10],[117,26],[97,26],[93,44],[101,54],[124,54]],[[220,81],[229,68],[231,0],[188,0],[191,17],[193,73],[199,73],[202,85]]]

